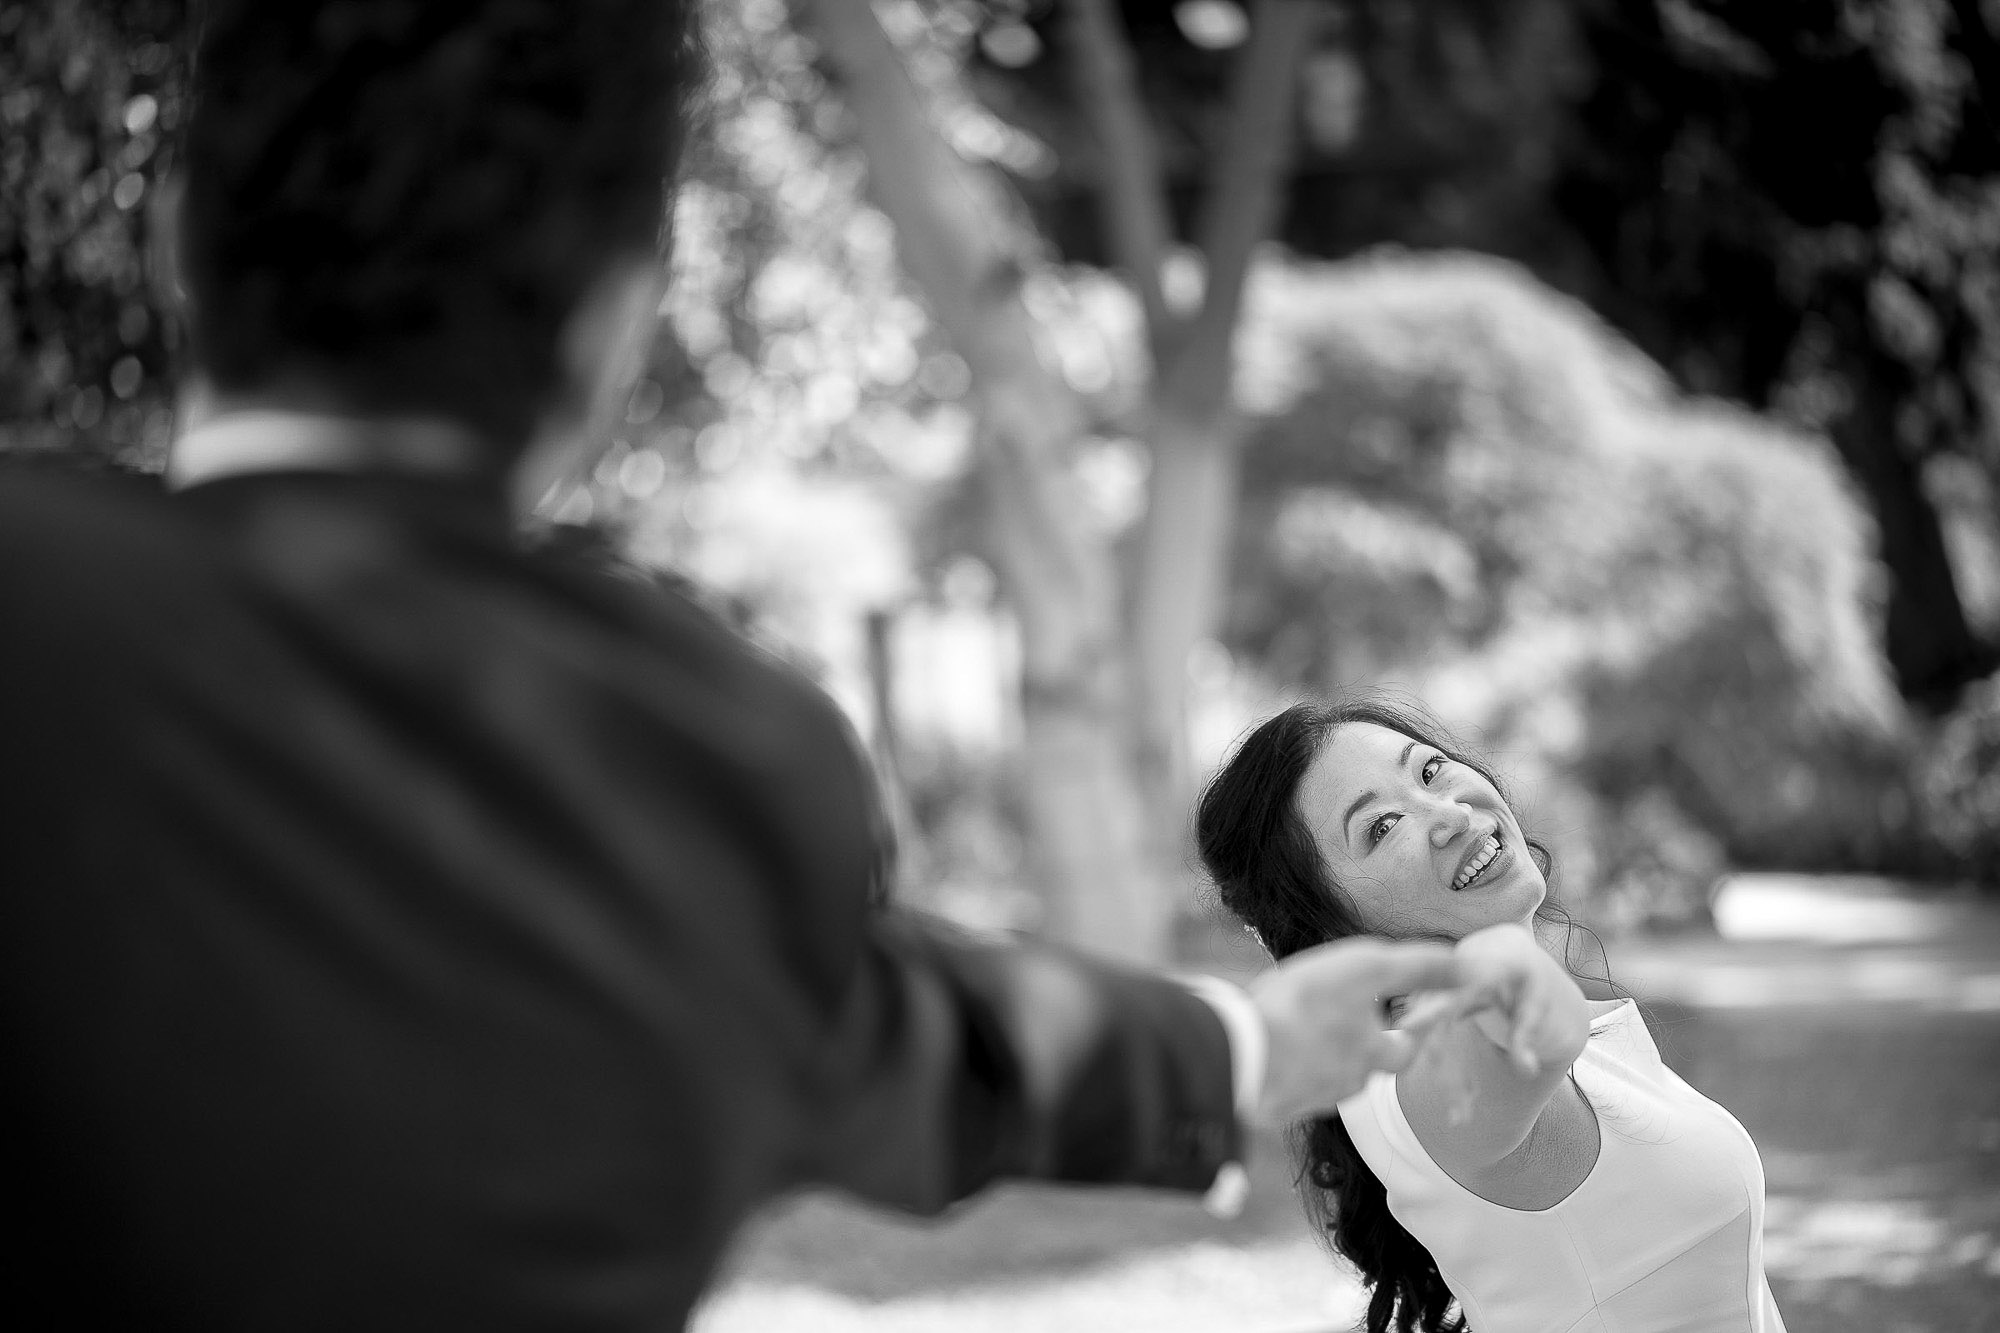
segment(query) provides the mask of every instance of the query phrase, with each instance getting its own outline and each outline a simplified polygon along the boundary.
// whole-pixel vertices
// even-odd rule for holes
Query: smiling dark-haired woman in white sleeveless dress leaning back
[[[1492,773],[1404,711],[1298,705],[1196,825],[1272,957],[1448,939],[1488,1001],[1302,1129],[1306,1207],[1372,1287],[1370,1333],[1784,1331],[1756,1145],[1660,1063],[1632,1001],[1586,999],[1536,943],[1562,921],[1548,855]]]

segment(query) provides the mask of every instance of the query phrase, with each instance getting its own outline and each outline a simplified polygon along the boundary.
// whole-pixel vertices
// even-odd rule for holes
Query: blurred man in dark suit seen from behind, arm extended
[[[210,6],[174,494],[0,480],[0,1209],[36,1327],[676,1327],[760,1199],[1210,1189],[1442,951],[1194,993],[868,909],[832,705],[526,552],[622,406],[668,0]],[[524,480],[526,478],[526,480]]]

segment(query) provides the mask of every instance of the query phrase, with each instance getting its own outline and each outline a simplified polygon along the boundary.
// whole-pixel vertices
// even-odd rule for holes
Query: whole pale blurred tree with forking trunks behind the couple
[[[1050,929],[1102,953],[1162,959],[1192,789],[1188,652],[1220,608],[1236,504],[1232,340],[1252,252],[1278,212],[1320,4],[1252,6],[1198,228],[1208,282],[1200,310],[1180,322],[1160,294],[1170,236],[1130,50],[1110,4],[1068,0],[1078,90],[1104,154],[1106,224],[1154,348],[1152,486],[1128,602],[1110,546],[1068,484],[1084,418],[1036,352],[1024,260],[1004,232],[1010,200],[940,138],[868,0],[800,8],[842,78],[904,268],[972,368],[988,548],[1022,630],[1026,811]]]

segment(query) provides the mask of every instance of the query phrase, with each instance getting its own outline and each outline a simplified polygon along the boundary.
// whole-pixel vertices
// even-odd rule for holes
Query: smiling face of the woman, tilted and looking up
[[[1326,869],[1372,935],[1526,925],[1548,885],[1494,785],[1374,723],[1328,733],[1298,785]]]

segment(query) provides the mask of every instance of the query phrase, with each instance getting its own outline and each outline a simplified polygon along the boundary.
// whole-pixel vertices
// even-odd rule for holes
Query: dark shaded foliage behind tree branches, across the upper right
[[[1228,52],[1200,50],[1172,6],[1118,8],[1186,234]],[[1014,54],[980,86],[1054,148],[1024,180],[1044,230],[1102,262],[1102,168],[1058,10],[1030,6],[1038,40],[992,46]],[[1948,703],[1992,669],[1916,472],[1938,454],[2000,466],[2000,10],[1352,0],[1328,6],[1302,88],[1288,246],[1518,258],[1682,386],[1830,432],[1894,574],[1900,689]]]

